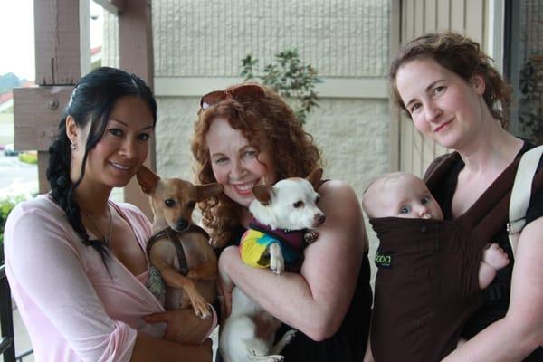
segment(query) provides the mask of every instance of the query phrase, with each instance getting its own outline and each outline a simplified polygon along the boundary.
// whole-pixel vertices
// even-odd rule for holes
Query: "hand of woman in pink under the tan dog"
[[[209,332],[213,319],[201,319],[193,310],[167,310],[143,318],[148,323],[167,323],[163,339],[189,345],[199,345]]]

